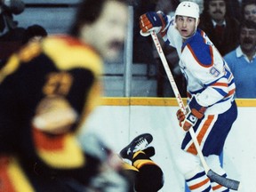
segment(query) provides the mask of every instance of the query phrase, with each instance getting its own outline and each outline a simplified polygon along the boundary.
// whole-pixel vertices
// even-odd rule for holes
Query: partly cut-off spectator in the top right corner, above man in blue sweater
[[[244,20],[256,22],[256,2],[255,0],[244,0],[242,5]]]

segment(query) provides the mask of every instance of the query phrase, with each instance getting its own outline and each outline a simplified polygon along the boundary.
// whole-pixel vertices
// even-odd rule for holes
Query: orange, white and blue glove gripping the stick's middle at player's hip
[[[188,103],[186,111],[179,109],[176,113],[176,116],[179,120],[180,127],[184,131],[188,131],[191,126],[194,126],[198,119],[201,119],[204,116],[206,107],[198,104],[196,97],[193,97],[192,100]]]

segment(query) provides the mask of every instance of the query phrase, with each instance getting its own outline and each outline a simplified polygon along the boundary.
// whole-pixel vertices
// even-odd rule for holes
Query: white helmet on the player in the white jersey
[[[175,18],[177,15],[195,18],[197,24],[199,19],[199,6],[198,4],[191,1],[183,1],[178,5],[175,11]]]

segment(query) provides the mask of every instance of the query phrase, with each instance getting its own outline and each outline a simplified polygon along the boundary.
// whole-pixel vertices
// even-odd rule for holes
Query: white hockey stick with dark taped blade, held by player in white
[[[156,32],[155,31],[152,31],[150,32],[150,35],[154,41],[154,44],[156,45],[156,50],[159,54],[159,57],[160,59],[162,60],[162,63],[163,63],[163,66],[164,66],[164,70],[166,72],[166,75],[168,76],[168,79],[170,81],[170,84],[172,85],[172,91],[174,92],[175,94],[175,97],[176,97],[176,100],[178,101],[178,104],[179,104],[179,107],[181,108],[181,110],[183,111],[186,111],[186,108],[185,108],[185,105],[183,103],[183,100],[180,96],[180,92],[178,90],[178,87],[175,83],[175,80],[172,76],[172,71],[170,70],[169,66],[168,66],[168,62],[164,56],[164,52],[162,50],[162,46],[158,40],[158,37],[156,36]],[[208,164],[206,163],[205,159],[204,159],[204,155],[203,155],[203,152],[199,146],[199,143],[198,143],[198,140],[196,138],[196,133],[194,132],[194,129],[193,128],[190,128],[189,129],[189,133],[191,135],[191,138],[194,142],[194,145],[196,147],[196,151],[197,151],[197,154],[200,158],[200,161],[201,161],[201,164],[203,165],[204,167],[204,172],[206,173],[206,175],[208,176],[208,178],[210,178],[211,180],[219,183],[220,185],[226,187],[226,188],[231,188],[231,189],[234,189],[234,190],[238,190],[239,188],[239,184],[240,182],[237,181],[237,180],[230,180],[228,178],[225,178],[225,177],[222,177],[220,176],[219,174],[217,174],[216,172],[213,172]]]

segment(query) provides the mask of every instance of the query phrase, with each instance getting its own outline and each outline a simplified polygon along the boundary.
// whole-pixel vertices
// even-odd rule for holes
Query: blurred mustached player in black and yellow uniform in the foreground
[[[102,61],[124,43],[127,4],[83,0],[77,8],[70,36],[27,44],[0,70],[0,191],[104,191],[102,177],[125,191],[108,153],[84,151],[76,136],[98,104]],[[100,141],[87,147],[102,151]]]

